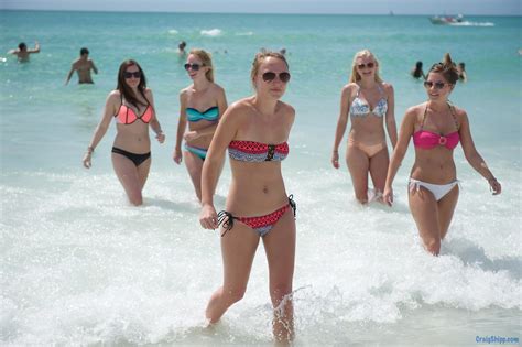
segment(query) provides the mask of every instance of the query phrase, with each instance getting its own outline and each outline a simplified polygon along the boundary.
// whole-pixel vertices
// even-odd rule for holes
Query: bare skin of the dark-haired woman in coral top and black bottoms
[[[130,65],[127,67],[126,72],[139,72],[139,68],[135,65]],[[141,101],[143,101],[145,105],[146,101],[149,101],[152,108],[154,109],[152,91],[150,89],[145,90],[146,100],[144,100],[138,91],[138,84],[140,83],[140,78],[127,78],[126,83],[132,88],[134,95],[137,95]],[[123,102],[126,101],[123,100]],[[94,149],[104,138],[105,133],[107,132],[107,129],[110,126],[110,122],[113,120],[115,115],[118,112],[120,105],[120,91],[112,90],[107,97],[104,115],[98,127],[95,130],[93,139],[90,140],[90,144],[87,149],[87,152],[84,155],[83,162],[85,167],[89,169],[91,166],[91,155]],[[146,106],[144,105],[140,105],[139,109],[135,109],[134,106],[129,105],[127,102],[126,105],[131,108],[138,116],[143,115],[146,109]],[[152,119],[149,123],[144,123],[139,119],[131,124],[117,123],[117,134],[115,138],[113,147],[135,154],[144,154],[150,152],[151,140],[149,138],[149,126],[156,133],[157,142],[163,143],[165,141],[165,135],[161,130],[161,126],[157,121],[155,112],[153,112]],[[129,202],[134,206],[142,205],[142,189],[149,176],[151,159],[149,158],[139,166],[135,166],[130,159],[119,153],[111,153],[111,159],[116,175],[118,176],[118,180],[123,186]]]

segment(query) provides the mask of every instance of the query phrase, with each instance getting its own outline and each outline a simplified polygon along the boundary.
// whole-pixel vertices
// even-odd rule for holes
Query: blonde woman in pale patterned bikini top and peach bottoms
[[[351,120],[346,164],[351,175],[356,198],[361,204],[368,203],[370,198],[382,202],[389,163],[383,122],[385,121],[388,135],[394,148],[396,143],[394,104],[393,87],[382,82],[379,76],[379,62],[374,55],[368,50],[356,53],[349,83],[341,91],[331,165],[339,169],[338,148],[348,120]],[[374,187],[373,197],[368,192],[368,174]]]

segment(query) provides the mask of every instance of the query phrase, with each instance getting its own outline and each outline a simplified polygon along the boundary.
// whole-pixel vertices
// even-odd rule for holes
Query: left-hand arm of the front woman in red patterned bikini
[[[224,161],[225,152],[233,140],[239,129],[241,119],[244,119],[244,110],[240,104],[232,105],[227,109],[219,122],[213,142],[205,158],[202,172],[202,212],[199,214],[199,223],[205,229],[216,229],[217,214],[214,208],[214,193]]]

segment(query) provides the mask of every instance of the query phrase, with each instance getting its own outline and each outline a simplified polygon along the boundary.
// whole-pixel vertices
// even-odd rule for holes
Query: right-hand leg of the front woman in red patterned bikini
[[[263,238],[269,262],[270,297],[274,307],[273,334],[278,341],[294,338],[292,281],[295,260],[295,220],[289,209]]]

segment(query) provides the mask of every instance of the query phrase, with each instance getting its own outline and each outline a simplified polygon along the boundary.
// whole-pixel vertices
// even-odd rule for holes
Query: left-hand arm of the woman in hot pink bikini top
[[[393,180],[395,178],[396,172],[399,171],[399,166],[401,166],[402,160],[407,151],[407,145],[410,144],[410,139],[413,134],[413,130],[415,127],[415,119],[416,119],[416,108],[412,107],[406,110],[404,115],[404,119],[401,123],[401,129],[399,130],[399,139],[395,144],[395,149],[393,150],[390,165],[388,166],[388,175],[387,175],[387,183],[384,185],[383,192],[383,200],[388,205],[393,204],[393,189],[392,184]]]

